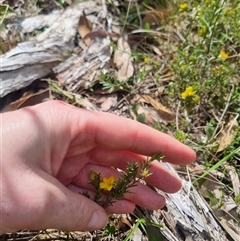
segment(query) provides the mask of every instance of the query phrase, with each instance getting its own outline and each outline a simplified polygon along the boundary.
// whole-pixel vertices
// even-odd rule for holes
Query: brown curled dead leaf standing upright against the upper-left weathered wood
[[[83,11],[78,22],[78,33],[83,39],[84,43],[88,46],[91,44],[91,38],[90,37],[85,38],[85,36],[89,34],[91,31],[92,31],[92,23],[87,19],[85,12]]]

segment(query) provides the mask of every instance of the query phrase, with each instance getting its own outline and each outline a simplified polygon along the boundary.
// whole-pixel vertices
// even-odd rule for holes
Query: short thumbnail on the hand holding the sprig
[[[86,227],[87,230],[93,231],[96,229],[102,229],[107,224],[107,214],[104,211],[96,210],[93,212],[92,217]]]

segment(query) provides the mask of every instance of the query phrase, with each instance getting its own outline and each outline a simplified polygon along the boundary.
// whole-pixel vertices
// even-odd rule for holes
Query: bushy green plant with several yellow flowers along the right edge
[[[179,1],[178,6],[176,19],[184,41],[177,43],[177,49],[174,45],[172,51],[174,54],[170,67],[173,79],[168,85],[167,101],[169,105],[179,101],[180,113],[186,110],[191,123],[199,120],[193,125],[205,129],[203,159],[211,159],[217,147],[209,149],[208,146],[214,143],[216,133],[221,131],[215,113],[225,114],[222,115],[223,122],[228,121],[228,113],[239,113],[240,62],[237,46],[240,38],[236,29],[240,26],[239,1]],[[180,19],[188,24],[181,24]],[[180,119],[178,127],[189,133],[189,124],[185,125],[185,122],[185,118]],[[199,139],[194,135],[192,140],[199,143],[204,138]],[[226,148],[220,159],[236,147],[233,143],[233,147]]]

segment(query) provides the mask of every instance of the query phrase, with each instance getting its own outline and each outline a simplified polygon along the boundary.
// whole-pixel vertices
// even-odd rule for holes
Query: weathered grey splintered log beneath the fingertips
[[[178,176],[171,165],[163,165]],[[179,192],[162,194],[166,197],[167,210],[153,211],[151,218],[164,223],[161,233],[167,240],[230,240],[191,183],[182,180],[182,189]]]

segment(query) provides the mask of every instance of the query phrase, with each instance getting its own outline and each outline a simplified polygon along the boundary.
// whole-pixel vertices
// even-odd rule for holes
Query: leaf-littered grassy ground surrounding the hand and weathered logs
[[[13,20],[74,4],[64,0],[0,2],[2,30]],[[7,106],[20,108],[43,95],[42,99],[47,96],[133,118],[174,136],[197,152],[193,165],[176,167],[179,175],[192,182],[219,221],[232,222],[232,230],[240,235],[239,0],[115,1],[107,3],[107,8],[119,31],[110,35],[113,54],[108,73],[98,72],[93,82],[81,88],[64,82],[59,85],[61,76],[56,73],[41,86],[33,83],[20,90],[17,102],[12,99]],[[81,20],[76,42],[89,45],[94,34],[102,34],[93,34],[90,25]],[[33,37],[4,36],[3,32],[1,54]],[[74,51],[79,48],[76,44]],[[46,95],[46,89],[51,93]],[[104,231],[94,233],[22,231],[1,238],[104,240],[112,234],[112,239],[123,240],[132,225],[128,225],[129,217],[119,221],[119,216],[113,215],[110,219]]]

